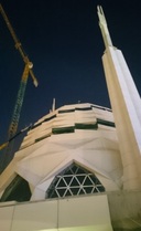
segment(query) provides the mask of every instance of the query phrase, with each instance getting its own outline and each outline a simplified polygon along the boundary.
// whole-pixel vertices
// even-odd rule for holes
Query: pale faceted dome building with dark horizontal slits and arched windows
[[[121,177],[111,111],[93,104],[66,105],[37,120],[24,137],[0,177],[1,201],[119,190]],[[63,179],[55,181],[58,178]]]

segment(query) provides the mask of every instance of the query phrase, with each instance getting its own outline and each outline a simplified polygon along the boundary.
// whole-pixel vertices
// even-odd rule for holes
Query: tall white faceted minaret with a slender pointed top
[[[98,17],[106,46],[102,64],[123,165],[123,189],[141,189],[141,98],[122,52],[112,45],[101,7]]]

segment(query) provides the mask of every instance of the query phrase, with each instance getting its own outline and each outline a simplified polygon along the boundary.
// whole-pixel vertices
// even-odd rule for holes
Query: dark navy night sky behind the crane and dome
[[[39,80],[29,77],[19,129],[48,113],[52,101],[94,103],[110,107],[101,64],[105,51],[98,25],[101,4],[111,39],[122,50],[141,93],[140,1],[111,0],[1,0],[33,62]],[[24,63],[0,17],[0,144],[7,139]]]

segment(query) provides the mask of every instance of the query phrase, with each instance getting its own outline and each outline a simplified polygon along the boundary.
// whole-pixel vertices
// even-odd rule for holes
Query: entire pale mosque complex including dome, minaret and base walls
[[[141,230],[140,96],[98,15],[113,114],[53,106],[33,125],[0,176],[2,231]]]

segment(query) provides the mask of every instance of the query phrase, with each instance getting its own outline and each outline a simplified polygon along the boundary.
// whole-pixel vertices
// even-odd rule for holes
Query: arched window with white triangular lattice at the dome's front
[[[72,164],[54,178],[45,198],[64,198],[104,191],[104,186],[94,174]]]

